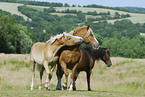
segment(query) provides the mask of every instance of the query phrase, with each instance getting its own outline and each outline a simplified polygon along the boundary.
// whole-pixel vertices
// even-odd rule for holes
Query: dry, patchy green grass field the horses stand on
[[[29,55],[0,54],[0,97],[144,97],[145,59],[112,57],[111,60],[113,65],[110,68],[102,61],[96,62],[91,76],[92,91],[87,91],[85,72],[81,72],[76,81],[77,91],[56,91],[55,71],[50,91],[38,90],[38,72],[36,72],[35,89],[30,91],[32,71]],[[43,76],[43,83],[45,77],[46,73]]]

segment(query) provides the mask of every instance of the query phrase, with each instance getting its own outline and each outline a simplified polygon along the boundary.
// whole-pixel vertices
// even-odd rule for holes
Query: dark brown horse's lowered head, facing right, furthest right
[[[106,63],[107,67],[110,67],[112,65],[111,59],[110,59],[110,50],[109,49],[104,49],[102,51],[101,60]]]

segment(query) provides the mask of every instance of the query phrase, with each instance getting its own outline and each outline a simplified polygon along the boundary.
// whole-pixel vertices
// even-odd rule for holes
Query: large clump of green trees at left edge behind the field
[[[24,31],[27,30],[23,31],[22,28],[24,29],[22,25],[16,23],[14,17],[0,14],[0,52],[28,53],[32,41],[26,33],[24,33]],[[21,34],[22,31],[23,34]],[[26,42],[28,43],[26,44]]]

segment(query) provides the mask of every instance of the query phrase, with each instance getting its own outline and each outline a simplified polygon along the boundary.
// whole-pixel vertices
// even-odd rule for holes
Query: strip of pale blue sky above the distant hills
[[[144,7],[145,0],[35,0],[57,3],[68,3],[69,5],[90,5],[97,4],[109,7]]]

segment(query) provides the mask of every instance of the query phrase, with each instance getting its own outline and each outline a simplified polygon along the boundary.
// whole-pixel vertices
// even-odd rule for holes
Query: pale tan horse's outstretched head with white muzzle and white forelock
[[[61,39],[62,39],[63,44],[67,46],[81,44],[84,41],[82,37],[73,36],[65,32],[63,33],[63,36]]]

